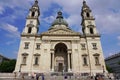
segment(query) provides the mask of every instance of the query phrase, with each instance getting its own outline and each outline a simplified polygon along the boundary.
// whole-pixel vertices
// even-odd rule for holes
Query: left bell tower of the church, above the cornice
[[[39,31],[38,25],[40,24],[39,16],[40,16],[40,11],[38,6],[38,1],[35,0],[35,3],[30,8],[29,14],[26,18],[26,24],[22,32],[22,35],[26,35],[26,34],[32,35],[38,33]]]

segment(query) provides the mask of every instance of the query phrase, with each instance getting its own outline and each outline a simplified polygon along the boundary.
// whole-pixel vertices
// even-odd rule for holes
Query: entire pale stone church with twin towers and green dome
[[[58,11],[48,31],[39,34],[39,9],[38,1],[35,0],[21,34],[15,72],[106,72],[100,34],[86,1],[83,1],[81,9],[82,33],[71,30],[62,12]]]

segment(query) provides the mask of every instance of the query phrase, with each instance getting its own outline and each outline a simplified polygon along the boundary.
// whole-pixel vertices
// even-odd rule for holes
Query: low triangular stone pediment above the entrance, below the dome
[[[42,33],[42,35],[80,35],[80,33],[70,29],[52,29]]]

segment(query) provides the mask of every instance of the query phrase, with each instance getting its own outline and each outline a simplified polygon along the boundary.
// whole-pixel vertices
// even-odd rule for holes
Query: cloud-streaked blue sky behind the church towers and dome
[[[83,0],[38,0],[40,30],[47,31],[61,10],[69,26],[81,32],[81,7]],[[101,34],[104,56],[120,51],[120,0],[86,0],[96,19]],[[20,34],[34,0],[0,0],[0,54],[16,58]]]

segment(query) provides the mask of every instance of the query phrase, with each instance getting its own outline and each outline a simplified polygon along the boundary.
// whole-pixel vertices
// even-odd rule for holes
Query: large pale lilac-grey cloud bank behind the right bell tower
[[[47,2],[44,0],[40,0],[39,2],[42,4],[47,2],[47,6],[44,5],[44,9],[48,9],[49,5],[52,6],[52,3],[56,3],[62,7],[63,12],[67,13],[69,16],[67,21],[70,25],[76,25],[77,27],[81,27],[79,22],[81,20],[81,6],[83,0],[49,0]],[[68,3],[68,4],[66,4]],[[120,5],[119,1],[113,0],[87,0],[88,6],[92,9],[93,16],[96,18],[96,24],[100,33],[111,34],[111,33],[119,33],[120,31]],[[114,4],[114,5],[113,5]],[[40,5],[41,6],[41,5]],[[43,6],[41,6],[43,8]],[[63,14],[64,14],[63,13]],[[76,18],[75,18],[76,17]],[[75,20],[76,19],[76,20]]]

